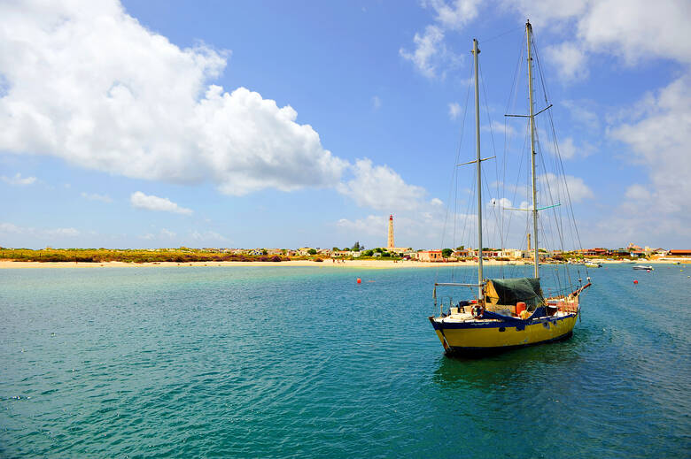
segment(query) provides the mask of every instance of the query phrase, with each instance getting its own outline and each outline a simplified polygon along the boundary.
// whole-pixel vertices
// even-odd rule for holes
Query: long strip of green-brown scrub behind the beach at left
[[[316,253],[316,252],[315,252]],[[157,263],[282,262],[287,256],[251,256],[203,249],[0,249],[0,259],[22,262]]]

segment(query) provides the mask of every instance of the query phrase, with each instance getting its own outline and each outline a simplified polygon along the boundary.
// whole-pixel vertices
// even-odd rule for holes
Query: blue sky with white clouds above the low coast
[[[525,19],[580,245],[691,246],[687,1],[27,1],[0,17],[3,247],[374,248],[389,214],[397,246],[474,245],[449,236],[472,213],[475,172],[454,166],[475,157],[472,39],[491,175],[524,144],[504,115],[527,111]],[[488,208],[524,206],[500,175]]]

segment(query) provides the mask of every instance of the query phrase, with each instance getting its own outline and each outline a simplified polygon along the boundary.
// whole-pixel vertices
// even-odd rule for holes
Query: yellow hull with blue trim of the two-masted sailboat
[[[502,350],[563,340],[571,336],[577,314],[540,318],[530,325],[492,321],[461,324],[445,323],[431,318],[437,336],[448,352]],[[501,326],[500,326],[501,325]]]

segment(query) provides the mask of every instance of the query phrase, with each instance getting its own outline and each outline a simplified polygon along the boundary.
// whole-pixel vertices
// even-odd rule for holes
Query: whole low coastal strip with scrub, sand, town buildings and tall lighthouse
[[[691,263],[691,249],[665,249],[629,243],[625,248],[547,250],[539,249],[540,263],[546,264],[601,264],[646,260],[658,263]],[[316,262],[352,264],[353,261],[389,261],[411,264],[477,263],[479,250],[459,246],[444,249],[414,249],[397,247],[393,232],[393,216],[389,216],[387,243],[383,247],[366,248],[360,241],[351,247],[321,248],[211,248],[179,247],[164,249],[11,249],[0,247],[0,261],[5,262],[75,262],[75,263],[208,263],[208,262]],[[534,249],[531,235],[527,234],[522,249],[482,248],[484,261],[496,264],[532,264]]]

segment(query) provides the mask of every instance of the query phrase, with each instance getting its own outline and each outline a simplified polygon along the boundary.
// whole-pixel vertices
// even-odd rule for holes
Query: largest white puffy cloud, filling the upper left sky
[[[181,49],[115,0],[0,4],[0,149],[223,193],[338,182],[346,161],[290,106],[210,84],[226,53]]]

